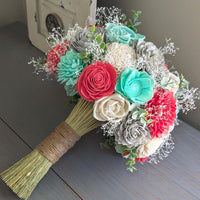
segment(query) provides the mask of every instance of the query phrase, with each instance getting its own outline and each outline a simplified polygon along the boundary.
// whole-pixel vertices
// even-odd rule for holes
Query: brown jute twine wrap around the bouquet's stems
[[[55,131],[44,139],[36,149],[53,164],[57,162],[80,139],[66,123],[59,124]]]

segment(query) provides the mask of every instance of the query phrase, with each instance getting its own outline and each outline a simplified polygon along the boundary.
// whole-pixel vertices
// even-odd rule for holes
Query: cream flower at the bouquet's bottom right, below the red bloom
[[[150,155],[152,155],[153,153],[156,152],[156,150],[162,146],[165,142],[165,140],[169,137],[169,134],[164,135],[161,138],[152,138],[150,139],[146,144],[144,145],[140,145],[137,150],[136,150],[136,154],[138,155],[139,158],[145,158],[148,157]]]

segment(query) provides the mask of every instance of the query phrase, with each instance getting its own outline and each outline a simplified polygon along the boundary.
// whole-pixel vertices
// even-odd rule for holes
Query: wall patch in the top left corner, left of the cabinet
[[[15,21],[26,23],[25,0],[0,0],[0,27]]]

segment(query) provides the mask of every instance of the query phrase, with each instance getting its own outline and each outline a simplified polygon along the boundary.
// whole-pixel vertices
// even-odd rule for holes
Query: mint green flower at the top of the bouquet
[[[108,40],[110,42],[130,44],[132,41],[138,41],[138,39],[145,39],[144,35],[135,33],[127,26],[117,25],[114,23],[106,24],[106,32]]]

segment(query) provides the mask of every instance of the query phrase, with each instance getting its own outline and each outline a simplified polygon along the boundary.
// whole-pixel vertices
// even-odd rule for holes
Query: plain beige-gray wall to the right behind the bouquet
[[[139,32],[157,46],[165,38],[172,38],[180,48],[168,63],[200,88],[200,0],[99,0],[101,6],[115,5],[125,13],[141,10],[142,25]],[[198,109],[181,116],[189,124],[200,129],[200,102]]]

